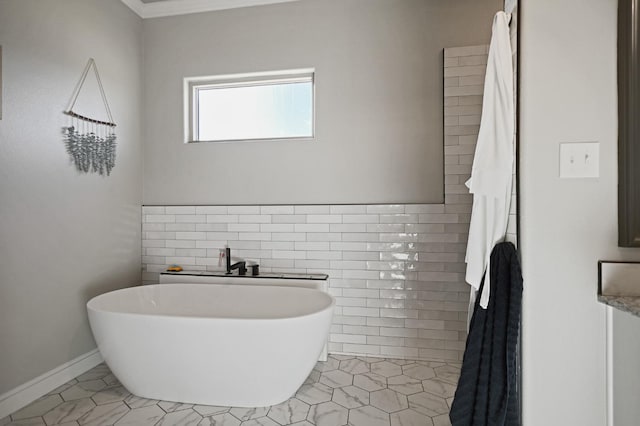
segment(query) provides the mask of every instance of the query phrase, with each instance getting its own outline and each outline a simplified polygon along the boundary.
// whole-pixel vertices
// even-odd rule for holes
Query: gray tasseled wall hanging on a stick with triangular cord
[[[96,76],[108,121],[90,118],[73,110],[91,68]],[[93,58],[87,62],[64,113],[69,116],[69,126],[62,128],[64,143],[76,169],[82,173],[92,172],[107,176],[111,174],[111,170],[116,165],[116,123],[113,122],[107,96]]]

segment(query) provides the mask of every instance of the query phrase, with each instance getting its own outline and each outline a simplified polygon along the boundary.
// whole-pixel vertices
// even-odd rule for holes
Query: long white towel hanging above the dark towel
[[[466,182],[469,192],[473,194],[473,209],[465,257],[465,279],[473,287],[473,302],[486,271],[485,285],[480,295],[480,306],[484,309],[489,303],[491,288],[491,251],[506,236],[511,204],[515,108],[509,21],[510,15],[504,12],[498,12],[493,18],[480,132],[471,179]]]

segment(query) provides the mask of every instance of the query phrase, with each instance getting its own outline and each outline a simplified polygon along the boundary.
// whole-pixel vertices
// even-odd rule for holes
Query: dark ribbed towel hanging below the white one
[[[516,248],[491,252],[491,297],[476,301],[458,388],[449,418],[453,426],[519,426],[517,344],[522,308],[522,272]],[[484,286],[484,278],[480,293]]]

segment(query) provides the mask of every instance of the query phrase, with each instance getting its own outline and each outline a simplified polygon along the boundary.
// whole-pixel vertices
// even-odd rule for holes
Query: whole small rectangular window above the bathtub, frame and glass
[[[187,142],[312,138],[313,70],[185,79]]]

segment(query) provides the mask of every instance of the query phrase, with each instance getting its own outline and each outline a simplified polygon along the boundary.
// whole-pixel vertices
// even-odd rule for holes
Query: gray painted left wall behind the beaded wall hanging
[[[0,394],[95,348],[85,303],[140,282],[141,31],[118,0],[0,0]],[[60,132],[90,56],[118,123],[110,177],[79,175]]]

